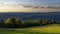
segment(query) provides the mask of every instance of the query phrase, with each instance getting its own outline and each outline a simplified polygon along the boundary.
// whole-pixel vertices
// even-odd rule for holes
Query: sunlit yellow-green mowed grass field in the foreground
[[[60,24],[30,28],[0,28],[0,34],[60,34]]]

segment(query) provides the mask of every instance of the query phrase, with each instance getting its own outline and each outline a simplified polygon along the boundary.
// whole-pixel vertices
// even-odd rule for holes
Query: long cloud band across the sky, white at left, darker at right
[[[24,8],[60,8],[60,7],[54,7],[54,6],[30,6],[30,5],[25,5],[25,4],[20,4],[20,3],[14,3],[14,2],[0,2],[0,6],[7,6],[7,7],[24,7]]]

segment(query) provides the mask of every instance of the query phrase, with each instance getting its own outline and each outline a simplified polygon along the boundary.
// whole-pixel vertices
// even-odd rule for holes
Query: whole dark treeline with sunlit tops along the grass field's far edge
[[[21,21],[19,18],[8,18],[3,21],[0,20],[0,28],[25,28],[32,26],[42,26],[56,23],[55,20],[30,20],[30,21]]]

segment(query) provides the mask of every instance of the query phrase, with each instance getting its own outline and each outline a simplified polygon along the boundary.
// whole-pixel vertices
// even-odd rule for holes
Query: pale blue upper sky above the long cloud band
[[[43,5],[43,6],[60,6],[60,0],[0,0],[0,2],[6,3],[20,3],[29,5]]]

